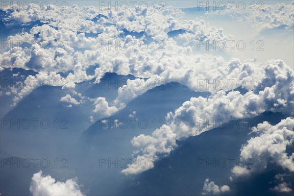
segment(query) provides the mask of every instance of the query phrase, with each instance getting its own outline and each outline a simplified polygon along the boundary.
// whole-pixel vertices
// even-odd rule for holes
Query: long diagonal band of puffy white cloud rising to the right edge
[[[191,98],[184,102],[181,107],[167,115],[168,129],[157,129],[151,136],[140,135],[133,138],[132,144],[135,147],[141,147],[139,152],[135,153],[140,156],[143,153],[145,157],[151,157],[149,161],[157,158],[159,154],[167,155],[176,147],[176,139],[199,135],[204,131],[219,127],[221,123],[214,122],[220,120],[228,122],[234,119],[254,117],[264,111],[280,111],[290,115],[294,107],[293,71],[280,60],[268,62],[263,69],[262,84],[245,95],[238,91],[226,94],[221,90],[209,98]],[[165,137],[158,137],[158,133],[162,130]],[[162,146],[154,145],[154,143],[162,144]],[[162,150],[163,147],[169,150]],[[270,154],[270,156],[273,155]],[[280,162],[282,160],[284,159],[280,159]],[[285,162],[286,165],[290,163]],[[139,166],[137,168],[136,172],[144,171]],[[236,168],[236,170],[241,173],[246,171],[245,168]],[[134,173],[134,170],[133,168],[125,169],[123,172]]]

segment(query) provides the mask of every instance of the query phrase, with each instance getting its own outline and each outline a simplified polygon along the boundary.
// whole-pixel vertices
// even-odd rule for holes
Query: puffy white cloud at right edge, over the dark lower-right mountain
[[[264,122],[258,127],[252,128],[251,134],[255,136],[241,148],[241,157],[245,160],[262,159],[265,167],[269,161],[282,166],[287,171],[294,172],[294,153],[289,155],[286,153],[286,148],[292,146],[294,142],[294,119],[289,117],[276,125]],[[242,170],[234,167],[232,172],[236,175],[246,175],[257,170],[257,167],[248,165]]]

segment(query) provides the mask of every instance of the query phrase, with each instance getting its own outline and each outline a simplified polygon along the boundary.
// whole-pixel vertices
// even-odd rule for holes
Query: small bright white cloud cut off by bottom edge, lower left
[[[50,175],[42,175],[42,171],[33,174],[29,191],[33,196],[84,196],[76,179],[55,182]]]

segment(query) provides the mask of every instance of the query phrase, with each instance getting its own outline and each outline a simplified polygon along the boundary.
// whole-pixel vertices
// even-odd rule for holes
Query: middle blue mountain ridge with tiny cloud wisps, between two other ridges
[[[208,92],[191,91],[177,82],[158,86],[130,101],[117,114],[91,125],[83,132],[80,142],[84,150],[97,149],[94,152],[99,155],[129,156],[133,149],[130,140],[134,136],[152,133],[164,123],[168,112],[180,107],[191,97],[209,95]],[[114,125],[116,119],[122,123],[117,127]]]

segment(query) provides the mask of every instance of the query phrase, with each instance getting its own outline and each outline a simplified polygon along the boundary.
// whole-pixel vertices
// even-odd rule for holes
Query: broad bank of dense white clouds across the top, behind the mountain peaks
[[[55,5],[50,7],[54,8]],[[33,7],[30,7],[28,11],[12,12],[9,20],[22,23],[45,20],[46,24],[36,25],[28,32],[9,36],[7,38],[8,46],[0,54],[3,67],[31,69],[48,75],[53,72],[73,71],[64,78],[69,84],[88,81],[95,77],[98,82],[104,73],[116,72],[118,74],[131,73],[137,77],[152,77],[156,80],[164,79],[166,82],[178,81],[192,89],[197,88],[194,77],[218,79],[222,77],[222,72],[226,71],[218,70],[220,65],[226,66],[221,57],[194,54],[190,47],[178,46],[176,41],[168,37],[169,31],[183,28],[191,34],[182,35],[184,36],[182,39],[188,43],[200,37],[206,37],[210,41],[226,39],[221,28],[210,26],[202,20],[182,20],[179,16],[182,16],[183,12],[179,9],[167,7],[166,11],[162,12],[149,8],[142,13],[138,7],[134,11],[127,10],[125,12],[101,11],[98,7],[78,7],[76,5],[67,7],[67,11],[56,11],[51,8],[37,7],[34,10]],[[97,14],[104,14],[109,19],[102,18],[97,23],[86,20],[94,18]],[[69,17],[73,18],[69,20]],[[62,23],[58,21],[62,21]],[[142,38],[131,35],[120,36],[124,28],[129,31],[145,31],[146,35]],[[87,37],[85,36],[87,32],[101,34]],[[38,37],[35,37],[36,34]],[[145,40],[146,36],[157,41],[157,44],[149,44],[146,50],[139,49],[138,43]],[[26,42],[34,44],[25,49],[17,47],[16,40],[19,41],[20,46]],[[110,42],[136,41],[136,44],[134,49],[129,46],[126,50],[116,50],[114,47],[109,49],[108,46],[101,48],[101,40]],[[160,48],[158,42],[161,40],[165,42],[165,50],[158,49]],[[42,45],[44,42],[50,47],[44,47]],[[206,74],[204,71],[208,69],[207,63],[212,64],[213,66],[209,69],[217,71],[218,74]],[[95,75],[88,75],[86,70],[94,64],[99,65],[95,70]],[[134,88],[130,91],[125,90],[124,93],[119,90],[116,106],[123,107],[129,100],[143,94],[151,87],[152,85],[148,85],[147,89]],[[24,95],[24,93],[19,93],[15,103]]]

